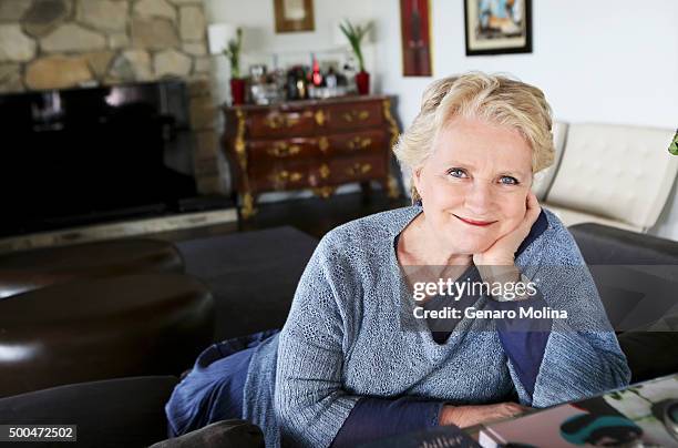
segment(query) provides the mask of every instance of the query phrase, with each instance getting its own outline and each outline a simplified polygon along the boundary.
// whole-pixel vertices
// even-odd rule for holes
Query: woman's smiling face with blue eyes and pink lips
[[[486,251],[525,217],[532,150],[517,130],[454,118],[414,172],[425,223],[455,254]]]

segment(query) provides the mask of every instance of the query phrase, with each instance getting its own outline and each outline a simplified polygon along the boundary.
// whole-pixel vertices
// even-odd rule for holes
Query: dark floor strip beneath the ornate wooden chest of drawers
[[[240,218],[238,224],[196,227],[145,236],[176,242],[290,225],[320,238],[340,224],[409,204],[408,198],[389,198],[381,191],[371,192],[369,197],[363,196],[362,193],[350,193],[339,194],[327,200],[319,197],[290,200],[258,204],[257,214],[249,220],[243,221]]]

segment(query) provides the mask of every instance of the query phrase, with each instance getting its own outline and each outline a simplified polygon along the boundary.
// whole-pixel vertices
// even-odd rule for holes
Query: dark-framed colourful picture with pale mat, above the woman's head
[[[532,53],[532,0],[464,0],[466,55]]]

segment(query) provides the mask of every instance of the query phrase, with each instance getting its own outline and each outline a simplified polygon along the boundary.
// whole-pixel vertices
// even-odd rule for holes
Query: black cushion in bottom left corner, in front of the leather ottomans
[[[167,437],[164,406],[176,384],[171,376],[122,378],[1,398],[0,422],[78,425],[78,442],[60,446],[147,447]]]

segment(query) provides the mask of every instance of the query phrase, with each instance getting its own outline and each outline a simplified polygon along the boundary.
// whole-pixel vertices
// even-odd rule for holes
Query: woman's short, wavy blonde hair
[[[532,172],[553,163],[551,106],[534,85],[503,75],[471,72],[431,83],[421,111],[393,149],[400,164],[412,171],[429,157],[433,139],[455,116],[479,118],[516,129],[532,147]],[[412,182],[412,202],[420,200]]]

